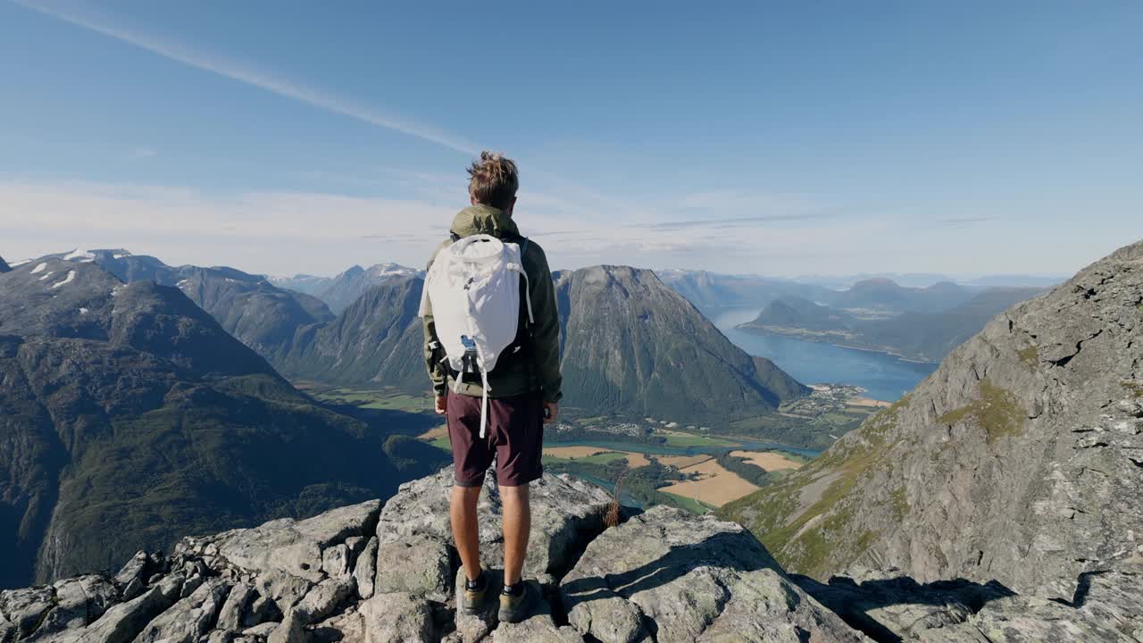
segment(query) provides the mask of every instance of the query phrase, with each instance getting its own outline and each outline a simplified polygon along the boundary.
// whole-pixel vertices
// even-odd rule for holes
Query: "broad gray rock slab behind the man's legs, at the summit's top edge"
[[[424,535],[453,545],[448,506],[453,467],[401,485],[381,513],[381,545]],[[490,567],[502,564],[501,500],[495,476],[487,476],[479,503],[481,556]],[[612,499],[602,489],[569,476],[545,474],[531,483],[531,535],[525,574],[561,575],[574,554],[604,529]]]

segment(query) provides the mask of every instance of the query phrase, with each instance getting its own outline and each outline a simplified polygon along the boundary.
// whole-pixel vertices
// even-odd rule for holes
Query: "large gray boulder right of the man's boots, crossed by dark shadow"
[[[791,582],[740,525],[668,507],[604,532],[563,578],[560,592],[569,621],[600,641],[638,640],[633,627],[608,621],[616,613],[630,619],[634,611],[618,612],[616,598],[634,604],[660,643],[729,635],[865,640]]]

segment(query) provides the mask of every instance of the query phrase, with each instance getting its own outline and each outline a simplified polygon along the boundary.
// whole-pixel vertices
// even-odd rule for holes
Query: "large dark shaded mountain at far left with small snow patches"
[[[0,275],[0,407],[9,587],[387,495],[440,462],[313,404],[182,289],[94,257]]]

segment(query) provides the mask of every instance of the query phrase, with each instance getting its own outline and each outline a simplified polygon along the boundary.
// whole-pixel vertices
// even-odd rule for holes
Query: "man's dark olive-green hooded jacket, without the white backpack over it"
[[[496,238],[519,241],[520,230],[512,217],[491,206],[475,205],[457,213],[453,220],[450,232],[457,237],[472,235],[491,235]],[[448,247],[451,239],[437,248]],[[433,253],[429,260],[437,257]],[[539,390],[544,402],[559,402],[560,384],[560,316],[555,308],[555,286],[552,284],[552,272],[547,268],[547,257],[543,248],[535,241],[528,241],[523,253],[523,271],[528,273],[528,288],[531,295],[531,312],[535,324],[531,326],[531,346],[525,347],[525,358],[513,359],[496,365],[488,373],[488,397],[511,397],[534,390]],[[521,302],[522,303],[522,302]],[[528,324],[528,312],[520,307],[520,328]],[[445,357],[441,349],[433,350],[437,342],[437,326],[432,318],[432,307],[425,305],[422,319],[424,325],[424,354],[429,378],[432,380],[433,392],[445,395],[454,382],[451,374],[441,364]],[[479,397],[482,392],[479,381],[465,380],[459,392]]]

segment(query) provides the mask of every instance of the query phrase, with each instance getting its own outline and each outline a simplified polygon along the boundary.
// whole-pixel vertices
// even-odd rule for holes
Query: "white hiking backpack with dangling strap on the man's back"
[[[525,239],[525,248],[527,244]],[[459,390],[466,373],[480,374],[480,437],[488,424],[488,372],[515,341],[521,275],[528,285],[522,255],[521,246],[490,235],[464,237],[437,253],[421,294],[421,316],[430,303],[443,360],[457,373],[454,390]],[[525,287],[531,324],[528,291]]]

